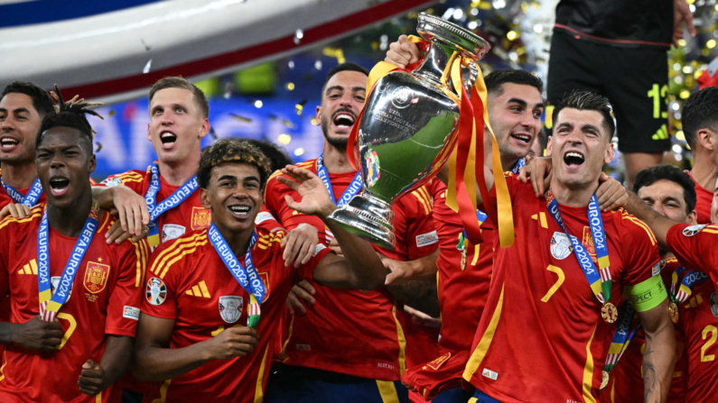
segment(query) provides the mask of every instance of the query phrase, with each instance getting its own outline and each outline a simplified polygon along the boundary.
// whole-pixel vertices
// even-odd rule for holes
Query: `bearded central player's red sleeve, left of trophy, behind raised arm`
[[[325,240],[324,223],[322,220],[314,215],[303,215],[297,213],[293,209],[286,205],[284,195],[289,195],[294,200],[299,200],[301,197],[297,195],[294,190],[285,187],[279,183],[276,177],[279,176],[277,173],[272,175],[266,182],[265,192],[265,206],[266,210],[275,216],[275,219],[279,221],[279,224],[287,230],[287,232],[294,230],[299,224],[307,223],[314,225],[319,231],[320,241]]]

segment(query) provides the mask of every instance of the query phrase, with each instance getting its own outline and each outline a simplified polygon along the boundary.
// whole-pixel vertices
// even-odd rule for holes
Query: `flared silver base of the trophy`
[[[377,197],[360,193],[335,210],[329,218],[344,231],[384,249],[394,249],[394,213]]]

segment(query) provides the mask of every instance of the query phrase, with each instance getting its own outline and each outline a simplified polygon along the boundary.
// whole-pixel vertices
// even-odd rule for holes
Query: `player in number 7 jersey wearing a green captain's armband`
[[[516,239],[508,248],[494,239],[489,298],[463,374],[479,401],[595,401],[619,284],[646,332],[646,401],[665,401],[676,340],[666,289],[651,272],[656,239],[623,211],[601,213],[594,198],[614,129],[605,98],[572,93],[554,111],[550,191],[536,200],[530,184],[508,175]],[[477,198],[497,208],[494,189]]]

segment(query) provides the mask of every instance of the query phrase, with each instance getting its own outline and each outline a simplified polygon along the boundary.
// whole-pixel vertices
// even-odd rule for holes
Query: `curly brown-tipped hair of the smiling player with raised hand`
[[[243,162],[256,167],[259,171],[259,186],[265,188],[266,179],[272,173],[271,162],[259,149],[240,139],[222,139],[202,150],[200,168],[197,169],[197,181],[200,188],[207,188],[212,177],[212,168],[225,162]]]

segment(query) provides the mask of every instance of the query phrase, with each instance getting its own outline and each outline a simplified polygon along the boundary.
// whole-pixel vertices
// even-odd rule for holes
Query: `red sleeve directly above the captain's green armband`
[[[633,215],[620,211],[621,258],[624,259],[620,283],[625,286],[639,284],[658,274],[660,252],[656,236],[648,225]],[[656,267],[657,270],[653,270]]]

